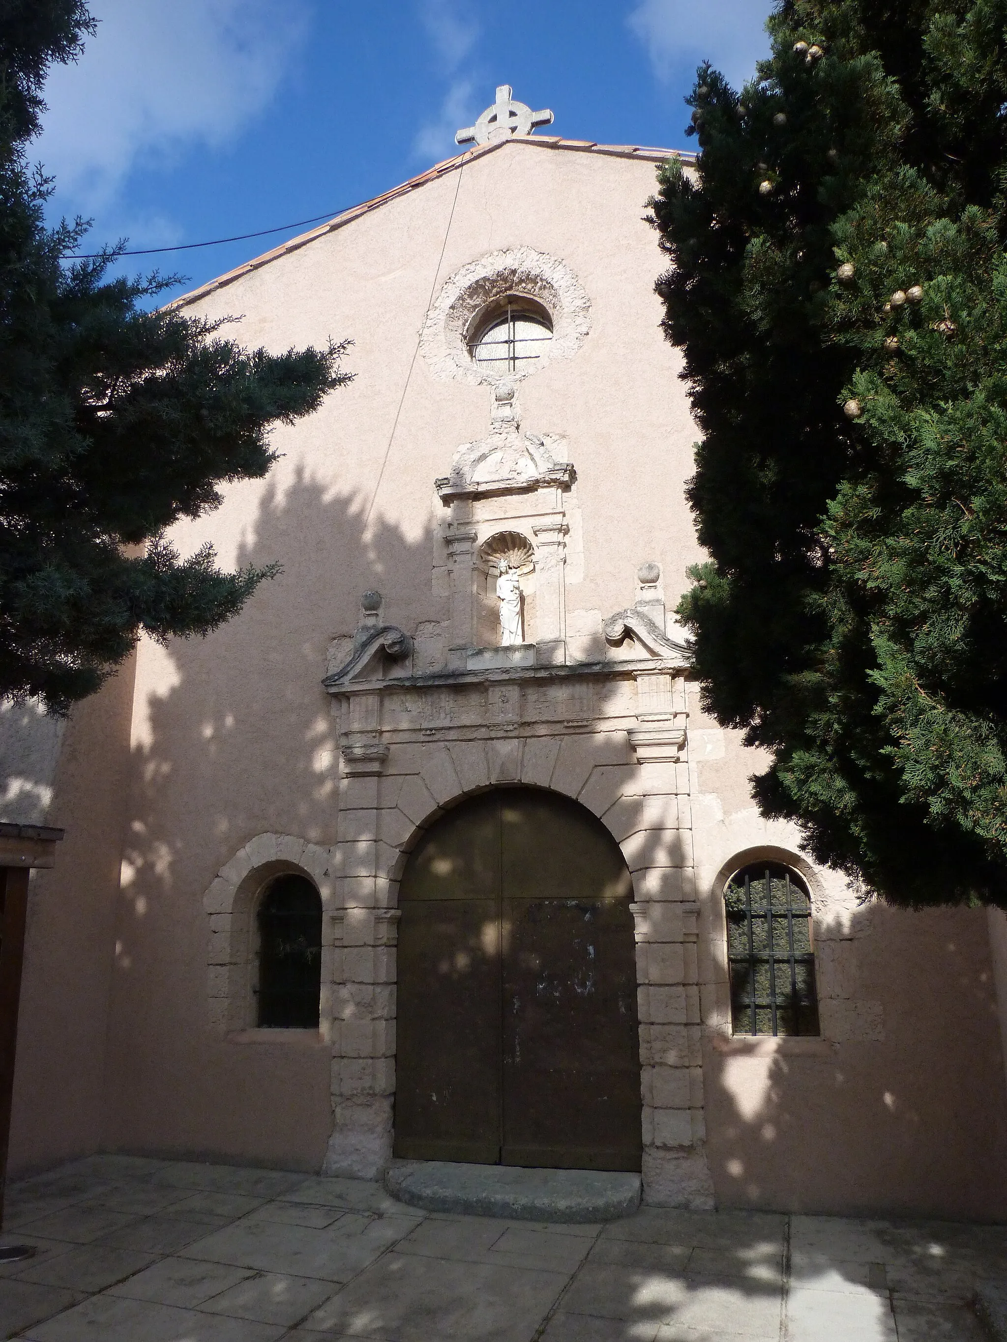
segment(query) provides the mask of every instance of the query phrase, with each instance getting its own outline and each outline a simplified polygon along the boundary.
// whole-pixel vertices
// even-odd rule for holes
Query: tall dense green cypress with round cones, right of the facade
[[[1007,907],[1007,0],[784,0],[654,212],[704,432],[679,608],[764,813]]]

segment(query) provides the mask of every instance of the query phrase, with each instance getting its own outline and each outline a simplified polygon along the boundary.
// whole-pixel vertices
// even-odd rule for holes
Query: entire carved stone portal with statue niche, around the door
[[[589,662],[567,654],[575,471],[559,437],[522,433],[514,386],[490,431],[436,482],[446,515],[447,656],[424,664],[367,593],[325,687],[340,739],[333,871],[330,1174],[376,1177],[392,1151],[396,961],[391,919],[419,829],[502,782],[564,792],[620,845],[632,878],[644,1196],[710,1208],[683,671],[661,569],[604,621]],[[443,570],[442,570],[443,572]],[[440,589],[443,590],[443,588]],[[526,640],[526,641],[525,641]],[[388,784],[385,786],[385,784]]]

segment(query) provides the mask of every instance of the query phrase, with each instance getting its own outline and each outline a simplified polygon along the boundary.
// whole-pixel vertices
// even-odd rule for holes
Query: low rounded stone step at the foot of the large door
[[[384,1182],[392,1197],[426,1212],[513,1221],[615,1221],[640,1205],[639,1174],[606,1170],[393,1161]]]

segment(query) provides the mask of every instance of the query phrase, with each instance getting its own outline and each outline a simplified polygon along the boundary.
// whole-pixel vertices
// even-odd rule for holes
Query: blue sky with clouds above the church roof
[[[498,83],[546,134],[691,148],[682,97],[709,56],[741,83],[772,0],[91,0],[34,157],[93,243],[162,247],[357,204],[457,153]],[[285,236],[134,258],[211,279]]]

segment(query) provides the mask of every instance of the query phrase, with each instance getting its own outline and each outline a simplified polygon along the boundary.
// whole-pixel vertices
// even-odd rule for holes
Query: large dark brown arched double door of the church
[[[640,1168],[630,899],[619,845],[556,793],[431,827],[400,887],[396,1155]]]

